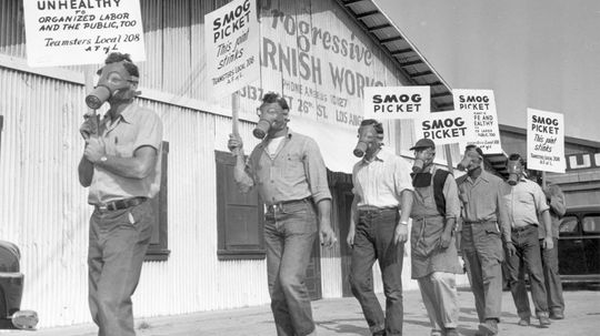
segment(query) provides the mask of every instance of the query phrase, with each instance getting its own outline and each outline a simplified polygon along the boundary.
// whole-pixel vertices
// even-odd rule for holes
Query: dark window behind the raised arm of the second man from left
[[[214,152],[217,162],[217,225],[220,261],[264,258],[263,205],[256,189],[242,194],[233,181],[234,157]]]

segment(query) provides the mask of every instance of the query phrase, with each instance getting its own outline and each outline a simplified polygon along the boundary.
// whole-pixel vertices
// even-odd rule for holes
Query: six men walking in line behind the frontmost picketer
[[[266,94],[258,111],[253,134],[261,142],[248,160],[241,138],[230,136],[229,149],[238,157],[233,177],[242,192],[258,187],[267,203],[269,292],[278,335],[316,335],[304,274],[317,233],[323,245],[336,242],[327,170],[314,140],[288,128],[289,106],[281,95]],[[454,180],[434,164],[436,144],[429,139],[410,149],[411,166],[383,145],[383,126],[372,119],[362,121],[358,139],[353,154],[360,160],[352,169],[354,197],[347,243],[352,248],[352,294],[372,335],[402,335],[401,274],[409,236],[411,277],[418,281],[431,335],[459,335],[454,276],[463,268],[457,246],[474,295],[477,335],[498,334],[503,265],[519,325],[529,325],[531,318],[524,271],[540,326],[548,327],[549,318],[563,318],[556,245],[564,197],[557,186],[544,194],[526,179],[519,154],[510,155],[509,179],[503,181],[483,169],[483,152],[474,145],[466,147],[459,164],[467,174]],[[384,312],[373,293],[376,261]]]

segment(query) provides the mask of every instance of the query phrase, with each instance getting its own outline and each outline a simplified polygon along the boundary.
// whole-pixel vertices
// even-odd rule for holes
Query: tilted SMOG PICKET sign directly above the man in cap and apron
[[[434,112],[414,120],[417,139],[431,139],[439,144],[472,141],[473,119],[464,112]]]

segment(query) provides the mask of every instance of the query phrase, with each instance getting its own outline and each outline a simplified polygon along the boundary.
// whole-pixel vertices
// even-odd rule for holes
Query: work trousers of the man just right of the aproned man
[[[464,223],[462,255],[480,323],[500,320],[502,308],[502,241],[496,222]]]

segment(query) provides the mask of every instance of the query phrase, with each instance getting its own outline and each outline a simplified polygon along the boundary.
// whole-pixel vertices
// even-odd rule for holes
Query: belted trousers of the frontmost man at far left
[[[89,305],[99,336],[134,336],[131,295],[152,236],[150,202],[96,210],[88,248]]]

